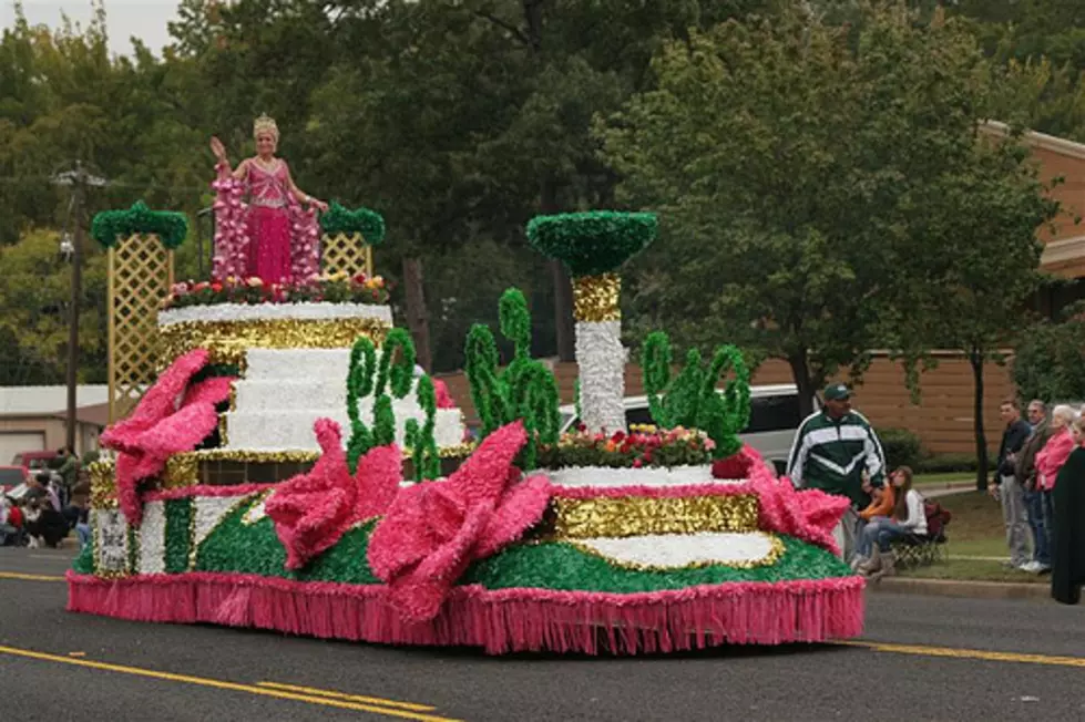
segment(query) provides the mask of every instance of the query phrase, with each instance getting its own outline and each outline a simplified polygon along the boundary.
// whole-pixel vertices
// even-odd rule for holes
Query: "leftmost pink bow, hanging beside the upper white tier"
[[[215,405],[229,398],[234,379],[216,377],[188,386],[208,358],[206,349],[178,358],[144,394],[132,415],[106,429],[99,440],[102,446],[119,452],[117,496],[130,524],[139,525],[143,518],[139,483],[162,473],[173,454],[195,448],[218,424]]]

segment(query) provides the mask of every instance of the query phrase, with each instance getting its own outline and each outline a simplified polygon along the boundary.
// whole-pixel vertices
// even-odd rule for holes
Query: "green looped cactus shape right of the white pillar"
[[[707,369],[702,367],[700,352],[692,349],[678,375],[671,379],[671,341],[667,334],[655,331],[645,339],[641,350],[644,389],[648,395],[652,419],[664,429],[685,426],[699,429],[716,443],[713,456],[726,458],[741,448],[738,434],[749,423],[749,367],[734,345],[720,345],[713,353]],[[716,390],[728,371],[724,391]]]

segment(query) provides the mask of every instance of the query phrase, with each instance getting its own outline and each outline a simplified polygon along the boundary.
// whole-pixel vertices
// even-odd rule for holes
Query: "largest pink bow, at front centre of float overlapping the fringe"
[[[396,496],[369,539],[368,556],[405,618],[436,617],[472,560],[515,542],[542,518],[550,482],[544,476],[519,482],[512,465],[525,441],[521,422],[503,426],[447,479]]]

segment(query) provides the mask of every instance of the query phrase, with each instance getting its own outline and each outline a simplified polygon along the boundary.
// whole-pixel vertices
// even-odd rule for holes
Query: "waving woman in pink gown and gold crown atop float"
[[[253,124],[256,155],[246,158],[232,173],[245,184],[249,197],[248,252],[246,276],[257,276],[266,283],[290,280],[290,214],[294,200],[327,210],[328,204],[318,200],[295,185],[286,161],[275,157],[279,130],[275,121],[260,115]],[[217,137],[211,138],[211,149],[218,164],[229,172],[226,148]]]

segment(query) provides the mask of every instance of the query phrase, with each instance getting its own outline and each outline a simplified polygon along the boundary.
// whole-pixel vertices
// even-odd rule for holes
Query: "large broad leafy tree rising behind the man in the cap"
[[[669,43],[658,87],[598,126],[622,197],[664,218],[639,264],[644,323],[787,361],[805,411],[840,369],[861,378],[925,271],[907,224],[973,133],[981,63],[961,29],[900,7],[858,31],[786,12]]]

